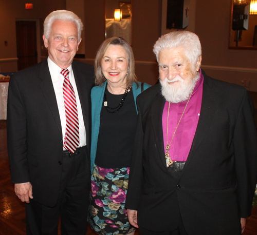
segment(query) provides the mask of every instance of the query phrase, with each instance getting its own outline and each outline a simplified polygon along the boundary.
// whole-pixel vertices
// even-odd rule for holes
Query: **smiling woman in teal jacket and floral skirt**
[[[131,234],[125,205],[133,141],[136,97],[148,84],[137,82],[131,46],[121,37],[105,40],[95,60],[91,90],[91,195],[89,224],[99,234]]]

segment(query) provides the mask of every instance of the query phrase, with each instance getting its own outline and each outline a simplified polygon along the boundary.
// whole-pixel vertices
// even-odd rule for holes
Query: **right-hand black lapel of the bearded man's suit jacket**
[[[215,103],[215,92],[211,84],[209,83],[208,77],[205,76],[200,117],[196,128],[194,140],[188,155],[187,164],[183,168],[183,171],[186,170],[187,166],[190,164],[194,153],[199,147],[201,141],[203,141],[203,139],[205,138],[205,135],[208,133],[216,110],[217,108]]]

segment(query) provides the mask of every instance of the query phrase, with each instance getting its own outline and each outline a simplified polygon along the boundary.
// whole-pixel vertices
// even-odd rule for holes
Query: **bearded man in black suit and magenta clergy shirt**
[[[192,32],[163,35],[154,52],[160,84],[137,99],[130,223],[141,235],[239,235],[257,173],[249,93],[200,70]]]

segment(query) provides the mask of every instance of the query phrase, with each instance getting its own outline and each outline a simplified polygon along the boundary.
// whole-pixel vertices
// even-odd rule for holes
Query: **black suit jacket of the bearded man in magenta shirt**
[[[240,218],[250,216],[257,173],[249,93],[204,73],[199,122],[178,180],[164,157],[164,103],[159,84],[138,96],[126,208],[138,210],[138,224],[153,231],[175,229],[181,215],[189,235],[241,234]]]

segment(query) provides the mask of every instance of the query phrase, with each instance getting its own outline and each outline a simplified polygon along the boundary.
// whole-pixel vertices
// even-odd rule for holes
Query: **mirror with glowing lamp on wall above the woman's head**
[[[132,45],[132,0],[105,0],[105,38],[123,37]]]

